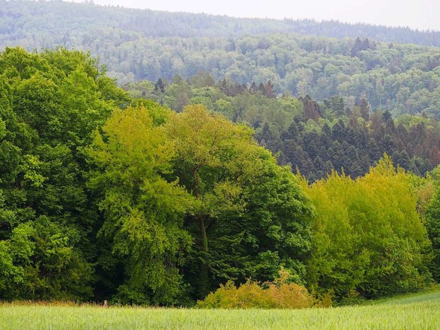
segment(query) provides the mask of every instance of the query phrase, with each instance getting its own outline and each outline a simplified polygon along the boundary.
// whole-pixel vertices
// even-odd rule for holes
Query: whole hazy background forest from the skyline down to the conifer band
[[[0,48],[87,50],[120,85],[202,70],[248,87],[270,80],[276,95],[318,102],[339,95],[350,104],[364,97],[393,116],[439,118],[440,50],[428,46],[439,46],[440,32],[61,1],[3,0],[0,18]]]

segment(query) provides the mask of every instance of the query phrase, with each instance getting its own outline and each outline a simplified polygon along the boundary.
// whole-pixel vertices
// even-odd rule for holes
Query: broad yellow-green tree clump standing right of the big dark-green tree
[[[318,217],[309,287],[336,298],[410,292],[430,281],[430,241],[407,175],[385,156],[364,177],[332,173],[307,190]]]

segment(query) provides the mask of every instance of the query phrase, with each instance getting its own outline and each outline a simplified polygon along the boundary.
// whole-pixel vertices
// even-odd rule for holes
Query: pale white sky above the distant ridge
[[[440,0],[94,0],[94,3],[232,17],[335,19],[440,31]]]

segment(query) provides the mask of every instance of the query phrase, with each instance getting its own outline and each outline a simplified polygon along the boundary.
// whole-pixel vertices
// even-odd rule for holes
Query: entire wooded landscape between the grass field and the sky
[[[307,307],[438,283],[439,46],[0,0],[0,300]]]

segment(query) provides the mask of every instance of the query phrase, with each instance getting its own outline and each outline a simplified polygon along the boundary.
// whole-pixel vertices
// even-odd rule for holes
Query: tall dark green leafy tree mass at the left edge
[[[0,54],[0,298],[92,296],[96,217],[80,148],[126,94],[83,52]]]

